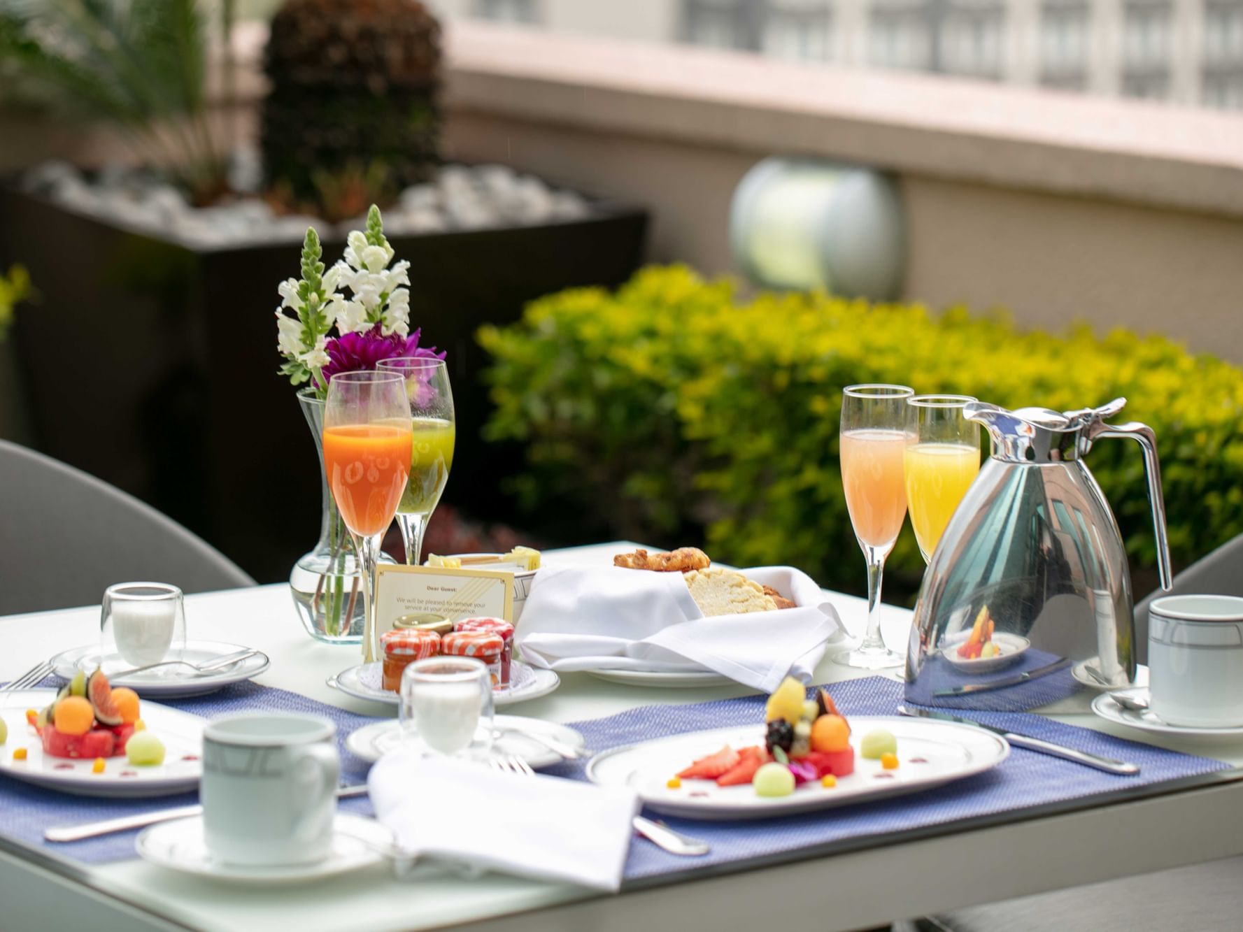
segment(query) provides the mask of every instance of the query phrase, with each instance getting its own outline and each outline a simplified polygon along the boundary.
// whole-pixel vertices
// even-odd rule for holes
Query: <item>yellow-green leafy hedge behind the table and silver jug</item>
[[[743,301],[728,281],[671,266],[645,268],[615,293],[552,295],[479,338],[493,359],[486,435],[526,444],[526,503],[585,508],[618,536],[702,534],[716,559],[789,563],[858,590],[838,415],[842,386],[860,381],[1007,408],[1125,395],[1125,418],[1157,434],[1175,564],[1243,532],[1243,372],[1162,337],[1021,332],[1002,314],[820,293]],[[1137,445],[1103,441],[1090,465],[1132,565],[1150,570]],[[899,585],[917,582],[909,526],[890,565]]]

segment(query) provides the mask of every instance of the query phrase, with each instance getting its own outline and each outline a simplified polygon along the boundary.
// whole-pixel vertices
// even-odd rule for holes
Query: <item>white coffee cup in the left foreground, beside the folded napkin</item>
[[[230,864],[308,864],[332,847],[337,727],[312,715],[229,716],[203,732],[204,840]]]

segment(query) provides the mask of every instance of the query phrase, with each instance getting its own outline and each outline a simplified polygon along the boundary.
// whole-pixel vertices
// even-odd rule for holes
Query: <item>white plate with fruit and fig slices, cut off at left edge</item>
[[[56,690],[0,693],[0,775],[86,797],[162,797],[195,789],[206,720],[102,674]]]

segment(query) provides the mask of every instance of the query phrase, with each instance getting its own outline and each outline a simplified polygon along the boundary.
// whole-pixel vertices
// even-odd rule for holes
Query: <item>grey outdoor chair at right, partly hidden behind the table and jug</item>
[[[1162,595],[1243,595],[1243,534],[1182,570],[1171,593],[1135,606],[1140,662],[1147,661],[1149,606]],[[1243,915],[1243,857],[1111,880],[1104,884],[971,906],[935,918],[894,923],[894,932],[1131,932],[1140,928],[1237,928]]]

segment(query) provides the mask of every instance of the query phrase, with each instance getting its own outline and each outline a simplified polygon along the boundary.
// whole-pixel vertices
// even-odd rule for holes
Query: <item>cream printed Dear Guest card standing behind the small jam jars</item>
[[[394,620],[434,611],[456,621],[484,615],[513,620],[513,573],[496,569],[380,565],[375,583],[380,634]]]

